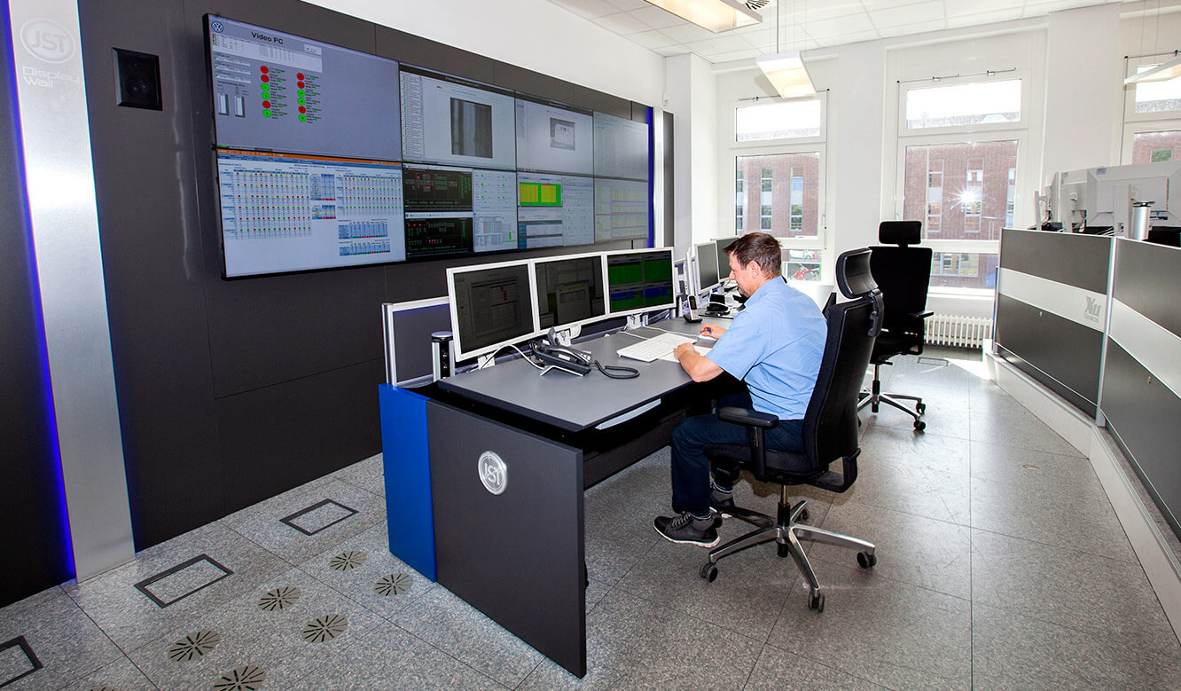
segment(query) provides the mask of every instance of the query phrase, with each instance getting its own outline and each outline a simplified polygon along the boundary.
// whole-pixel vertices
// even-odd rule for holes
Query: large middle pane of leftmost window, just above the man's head
[[[818,235],[818,152],[737,156],[736,161],[735,220],[739,234],[764,230],[784,239]],[[746,209],[758,209],[758,216],[748,215]]]

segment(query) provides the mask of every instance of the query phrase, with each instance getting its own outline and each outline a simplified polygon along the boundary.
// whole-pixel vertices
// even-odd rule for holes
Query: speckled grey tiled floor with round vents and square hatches
[[[853,489],[801,490],[813,523],[877,545],[873,571],[809,545],[823,613],[770,546],[709,584],[704,550],[653,532],[665,449],[586,493],[576,679],[389,553],[374,457],[4,608],[0,641],[24,637],[43,665],[6,687],[1181,687],[1181,646],[1090,464],[979,371],[957,351],[886,369],[887,390],[926,398],[927,432],[866,411]],[[777,493],[744,482],[737,498],[774,511]],[[324,500],[357,513],[320,532],[308,514],[312,535],[280,521]],[[136,588],[201,555],[233,575],[167,607]],[[220,572],[174,582],[202,573]],[[280,589],[283,606],[263,608]],[[32,669],[24,648],[0,651],[0,685]]]

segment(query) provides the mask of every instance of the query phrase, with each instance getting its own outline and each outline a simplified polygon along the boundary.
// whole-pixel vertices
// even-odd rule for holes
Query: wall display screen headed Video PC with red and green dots
[[[218,146],[402,159],[398,63],[207,17]]]

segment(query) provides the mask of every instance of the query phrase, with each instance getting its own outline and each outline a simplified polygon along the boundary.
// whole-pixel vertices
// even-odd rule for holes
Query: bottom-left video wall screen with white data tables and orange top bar
[[[217,151],[224,275],[406,259],[402,164]]]

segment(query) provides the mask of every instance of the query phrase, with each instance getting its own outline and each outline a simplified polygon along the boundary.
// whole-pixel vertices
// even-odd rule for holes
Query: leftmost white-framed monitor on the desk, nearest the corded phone
[[[531,337],[529,262],[446,269],[456,359],[491,353]]]

